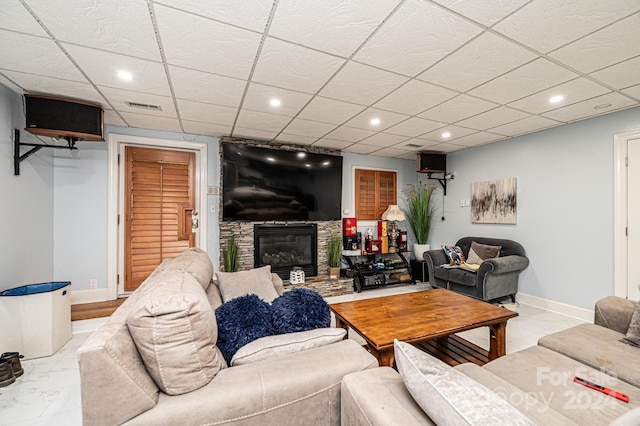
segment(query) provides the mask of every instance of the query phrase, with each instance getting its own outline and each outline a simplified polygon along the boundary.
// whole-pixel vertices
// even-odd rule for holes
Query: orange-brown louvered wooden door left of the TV
[[[193,247],[195,153],[128,146],[124,178],[124,291]]]

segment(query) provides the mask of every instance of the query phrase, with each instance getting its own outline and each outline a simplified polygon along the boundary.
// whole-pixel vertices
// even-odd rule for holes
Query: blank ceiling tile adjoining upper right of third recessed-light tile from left
[[[443,87],[410,80],[404,86],[376,102],[374,106],[401,114],[416,115],[456,95],[456,92]]]

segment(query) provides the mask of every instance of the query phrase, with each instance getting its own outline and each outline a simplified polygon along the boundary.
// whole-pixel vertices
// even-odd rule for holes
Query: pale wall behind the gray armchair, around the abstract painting
[[[582,308],[614,292],[613,136],[640,128],[640,108],[447,156],[446,220],[432,245],[463,236],[509,238],[530,259],[520,291]],[[472,224],[471,182],[517,178],[516,225]]]

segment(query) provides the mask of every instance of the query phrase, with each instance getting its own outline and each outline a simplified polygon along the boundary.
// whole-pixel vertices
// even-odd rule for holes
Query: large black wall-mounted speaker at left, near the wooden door
[[[51,138],[104,141],[98,104],[53,96],[24,95],[27,132]]]

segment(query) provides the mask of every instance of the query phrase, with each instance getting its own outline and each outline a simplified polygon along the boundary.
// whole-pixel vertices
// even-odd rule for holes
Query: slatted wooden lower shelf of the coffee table
[[[450,366],[463,364],[465,362],[472,362],[483,366],[489,362],[489,351],[455,334],[414,343],[414,346],[435,356]]]

